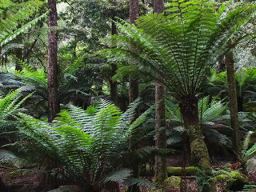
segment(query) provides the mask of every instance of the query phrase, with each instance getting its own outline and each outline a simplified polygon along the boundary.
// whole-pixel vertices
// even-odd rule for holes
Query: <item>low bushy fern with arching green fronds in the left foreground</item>
[[[86,191],[100,191],[119,185],[150,185],[132,178],[134,161],[143,162],[151,154],[165,154],[154,147],[131,150],[148,132],[141,125],[154,107],[150,107],[134,122],[138,100],[122,113],[114,104],[102,100],[96,107],[82,110],[69,106],[53,123],[20,114],[19,148],[51,162],[55,178],[64,184],[82,186]],[[132,139],[130,138],[132,136]]]

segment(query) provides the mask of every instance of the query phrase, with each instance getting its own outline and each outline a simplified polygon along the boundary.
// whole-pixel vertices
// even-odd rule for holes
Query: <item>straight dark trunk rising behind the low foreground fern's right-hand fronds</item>
[[[138,0],[130,0],[130,24],[135,24],[135,20],[138,18]],[[130,62],[130,65],[134,63]],[[130,103],[134,102],[138,98],[138,77],[130,75],[129,77],[129,97]]]

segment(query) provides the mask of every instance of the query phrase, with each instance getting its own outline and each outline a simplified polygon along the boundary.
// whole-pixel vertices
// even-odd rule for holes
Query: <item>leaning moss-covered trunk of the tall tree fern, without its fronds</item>
[[[191,161],[204,170],[210,170],[210,157],[199,126],[198,98],[186,97],[179,102],[185,129],[190,139]]]

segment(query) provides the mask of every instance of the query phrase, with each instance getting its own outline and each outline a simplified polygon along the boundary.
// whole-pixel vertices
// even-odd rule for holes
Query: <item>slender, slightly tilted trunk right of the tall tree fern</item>
[[[239,155],[241,153],[241,136],[238,121],[237,90],[234,78],[234,56],[232,52],[226,54],[226,76],[228,83],[228,96],[230,100],[230,123],[234,130],[232,142],[235,154]]]

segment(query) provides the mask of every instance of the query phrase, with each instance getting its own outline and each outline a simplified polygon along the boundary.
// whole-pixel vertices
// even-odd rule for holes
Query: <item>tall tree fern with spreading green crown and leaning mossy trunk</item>
[[[212,59],[227,49],[226,42],[252,17],[256,7],[239,6],[226,12],[225,4],[218,10],[213,2],[204,0],[172,0],[169,6],[166,16],[139,18],[138,28],[127,22],[118,23],[123,36],[110,38],[110,42],[113,38],[116,41],[112,51],[132,55],[141,65],[162,74],[166,87],[179,103],[191,154],[198,165],[207,168],[210,158],[198,125],[198,96]]]

